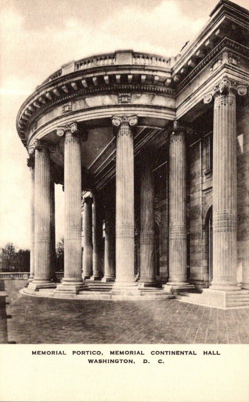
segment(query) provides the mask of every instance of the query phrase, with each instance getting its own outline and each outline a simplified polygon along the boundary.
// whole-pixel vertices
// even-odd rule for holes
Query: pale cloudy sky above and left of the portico
[[[133,49],[175,56],[217,0],[2,0],[0,6],[0,247],[30,247],[30,171],[16,131],[26,97],[68,61]],[[236,4],[249,8],[248,0]],[[63,192],[56,186],[56,238]]]

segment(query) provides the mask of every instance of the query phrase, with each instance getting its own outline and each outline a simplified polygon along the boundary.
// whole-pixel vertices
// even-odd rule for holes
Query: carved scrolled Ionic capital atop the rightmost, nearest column
[[[204,95],[204,104],[209,104],[216,95],[227,94],[230,91],[235,92],[240,96],[244,96],[247,92],[247,86],[234,79],[224,76],[219,83],[213,86],[211,92]]]

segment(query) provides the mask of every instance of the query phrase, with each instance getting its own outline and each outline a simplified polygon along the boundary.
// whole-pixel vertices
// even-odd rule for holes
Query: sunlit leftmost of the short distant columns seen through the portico
[[[83,213],[83,279],[90,279],[93,274],[93,221],[92,197],[84,198]]]

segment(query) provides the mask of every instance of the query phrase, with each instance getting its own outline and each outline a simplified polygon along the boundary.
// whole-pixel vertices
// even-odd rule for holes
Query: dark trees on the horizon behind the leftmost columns
[[[1,272],[29,272],[30,250],[18,249],[13,243],[7,243],[0,252]],[[56,247],[56,271],[64,271],[64,239]]]

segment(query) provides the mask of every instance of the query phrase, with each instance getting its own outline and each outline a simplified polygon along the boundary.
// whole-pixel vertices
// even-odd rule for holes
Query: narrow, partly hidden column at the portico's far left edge
[[[32,282],[35,276],[35,158],[27,159],[28,167],[31,172],[31,246],[30,246],[30,277],[28,282]]]

